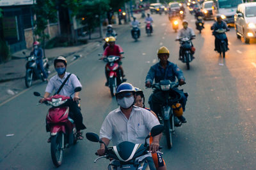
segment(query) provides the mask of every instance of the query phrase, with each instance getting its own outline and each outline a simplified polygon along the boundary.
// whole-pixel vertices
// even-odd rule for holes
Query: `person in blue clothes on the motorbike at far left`
[[[42,71],[43,76],[44,76],[44,80],[48,81],[48,79],[47,79],[48,73],[46,73],[45,70],[44,70],[43,50],[42,50],[42,48],[39,45],[40,45],[40,43],[38,41],[35,41],[33,43],[33,51],[30,53],[30,55],[35,55],[37,66]]]

